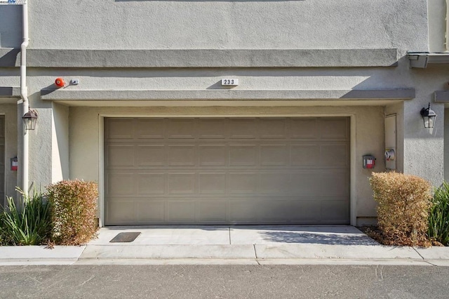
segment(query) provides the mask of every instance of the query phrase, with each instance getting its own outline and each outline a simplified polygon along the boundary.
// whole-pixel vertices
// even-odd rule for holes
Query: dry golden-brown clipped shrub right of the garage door
[[[370,184],[384,244],[429,246],[430,183],[415,175],[373,173]]]

